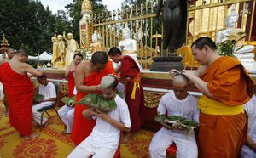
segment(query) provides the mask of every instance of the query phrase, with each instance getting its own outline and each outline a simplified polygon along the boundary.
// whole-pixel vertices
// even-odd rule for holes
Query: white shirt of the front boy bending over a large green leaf
[[[114,101],[117,104],[117,108],[108,112],[108,116],[116,121],[123,122],[125,127],[131,127],[130,114],[128,106],[125,100],[121,99],[119,95],[116,95]],[[117,149],[120,138],[120,130],[113,127],[107,121],[102,120],[102,118],[96,118],[96,125],[93,128],[90,136],[86,138],[94,147],[104,147],[109,149]]]

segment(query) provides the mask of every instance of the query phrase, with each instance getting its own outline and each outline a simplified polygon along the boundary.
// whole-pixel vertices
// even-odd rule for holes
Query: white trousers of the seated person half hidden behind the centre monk
[[[59,116],[61,120],[67,126],[67,133],[71,133],[73,127],[73,113],[74,108],[66,105],[62,106],[60,110],[58,110]]]

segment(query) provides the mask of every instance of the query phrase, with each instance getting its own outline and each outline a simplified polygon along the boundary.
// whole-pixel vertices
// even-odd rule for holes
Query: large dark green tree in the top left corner
[[[55,16],[42,3],[30,0],[0,0],[0,36],[5,33],[12,48],[35,55],[51,48]]]

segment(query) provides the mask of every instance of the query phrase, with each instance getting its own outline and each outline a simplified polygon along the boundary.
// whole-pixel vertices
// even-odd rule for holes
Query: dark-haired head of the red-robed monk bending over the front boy
[[[92,54],[90,62],[95,71],[103,71],[108,63],[108,55],[106,52],[96,51]]]

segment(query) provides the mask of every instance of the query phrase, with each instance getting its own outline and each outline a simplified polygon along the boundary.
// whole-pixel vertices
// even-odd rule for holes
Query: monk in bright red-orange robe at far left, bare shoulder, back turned
[[[32,133],[33,84],[27,73],[42,76],[43,73],[26,64],[28,55],[18,50],[14,57],[0,67],[0,80],[3,82],[9,103],[9,122],[24,138],[36,138]]]

